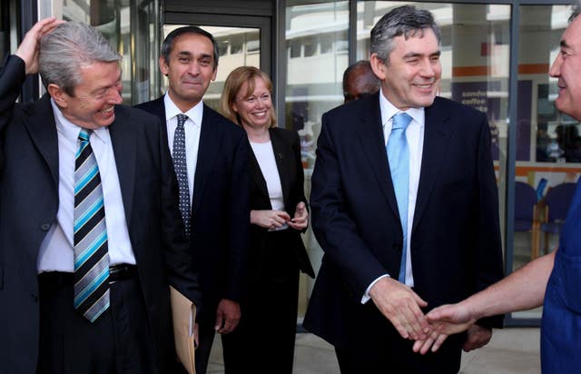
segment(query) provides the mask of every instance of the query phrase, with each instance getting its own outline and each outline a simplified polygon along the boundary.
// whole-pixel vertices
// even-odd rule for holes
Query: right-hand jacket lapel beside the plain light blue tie
[[[442,162],[444,162],[443,155],[446,154],[450,133],[453,131],[453,126],[448,123],[448,112],[442,108],[438,97],[431,106],[426,108],[425,118],[424,149],[421,156],[412,234],[418,225],[421,214],[426,209],[434,183],[438,180],[438,173]]]

